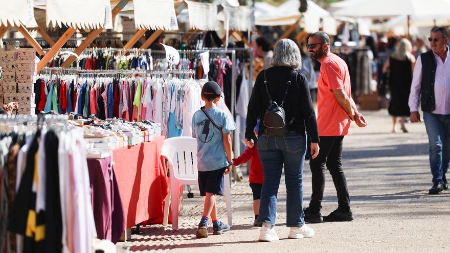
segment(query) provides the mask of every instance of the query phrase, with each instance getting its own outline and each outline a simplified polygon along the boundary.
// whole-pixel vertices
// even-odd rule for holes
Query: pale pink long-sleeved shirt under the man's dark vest
[[[436,76],[434,81],[434,96],[436,108],[432,113],[450,114],[450,60],[448,60],[449,49],[447,47],[447,58],[442,62],[441,58],[434,53],[436,59]],[[411,111],[419,111],[420,84],[422,82],[422,60],[417,57],[414,66],[413,82],[408,105]]]

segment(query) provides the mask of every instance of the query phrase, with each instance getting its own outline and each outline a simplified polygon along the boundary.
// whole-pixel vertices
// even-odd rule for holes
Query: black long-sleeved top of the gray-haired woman
[[[292,72],[295,72],[292,75]],[[319,133],[317,130],[316,113],[312,106],[311,95],[309,94],[308,81],[306,77],[298,71],[292,70],[290,67],[274,66],[266,70],[265,77],[268,84],[269,93],[272,99],[281,103],[284,92],[286,91],[287,82],[291,80],[291,85],[284,101],[283,109],[285,111],[286,122],[290,122],[295,117],[294,123],[289,126],[290,131],[296,131],[300,135],[305,135],[305,125],[311,142],[319,142]],[[252,96],[250,98],[247,111],[247,124],[245,128],[245,138],[256,141],[253,132],[256,122],[260,119],[258,134],[265,131],[262,119],[269,105],[269,98],[264,86],[263,71],[256,77],[255,86],[253,87]]]

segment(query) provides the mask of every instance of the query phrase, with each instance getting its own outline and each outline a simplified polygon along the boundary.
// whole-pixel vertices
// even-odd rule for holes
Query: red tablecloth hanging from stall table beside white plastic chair
[[[164,136],[151,142],[113,151],[126,227],[143,221],[163,223],[164,198],[168,193],[167,175],[161,162]]]

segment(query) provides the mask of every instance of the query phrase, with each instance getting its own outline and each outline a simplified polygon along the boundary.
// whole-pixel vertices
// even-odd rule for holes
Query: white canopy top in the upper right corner
[[[353,0],[351,6],[341,8],[333,15],[350,17],[392,17],[399,15],[446,15],[449,0]]]

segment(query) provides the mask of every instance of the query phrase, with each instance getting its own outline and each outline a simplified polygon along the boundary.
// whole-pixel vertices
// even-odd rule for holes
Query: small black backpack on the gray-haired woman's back
[[[294,75],[294,73],[295,72],[291,74],[290,79],[292,78],[292,75]],[[287,91],[289,91],[291,83],[290,79],[287,82],[286,91],[284,92],[281,104],[278,105],[277,102],[272,100],[271,94],[269,93],[267,80],[265,78],[265,71],[263,75],[264,75],[265,89],[269,97],[269,107],[265,111],[263,119],[263,123],[265,126],[265,133],[274,136],[286,136],[287,132],[289,132],[288,127],[292,124],[292,122],[294,122],[294,117],[292,117],[292,120],[289,122],[289,124],[286,124],[286,116],[283,109],[284,100],[286,99]]]

